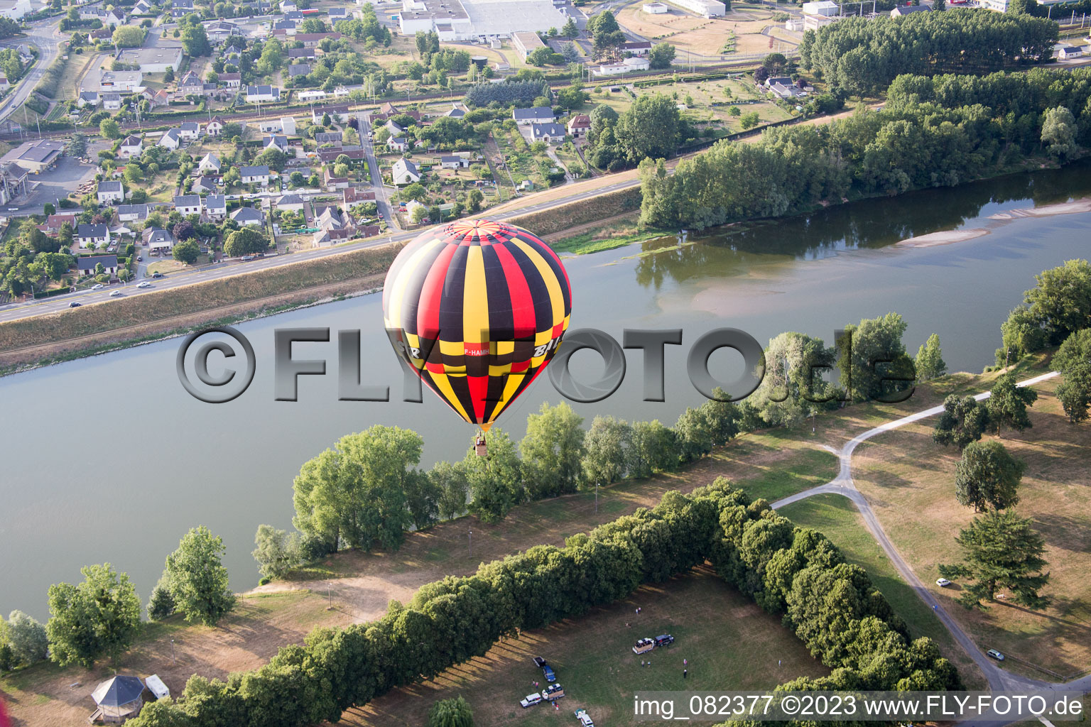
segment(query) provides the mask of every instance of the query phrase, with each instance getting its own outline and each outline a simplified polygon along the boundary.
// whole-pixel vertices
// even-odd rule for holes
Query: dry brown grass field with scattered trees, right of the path
[[[1035,387],[1033,428],[1005,432],[1000,440],[1027,463],[1015,509],[1032,518],[1045,538],[1051,580],[1044,593],[1053,604],[1034,613],[999,601],[967,611],[954,603],[957,584],[938,593],[982,649],[1009,656],[1006,668],[1051,680],[1072,678],[1091,665],[1091,425],[1068,423],[1053,396],[1057,383]],[[925,582],[938,575],[939,564],[958,560],[955,537],[973,518],[971,508],[955,501],[959,452],[934,444],[933,426],[934,419],[925,420],[870,440],[856,450],[854,468],[858,487]]]

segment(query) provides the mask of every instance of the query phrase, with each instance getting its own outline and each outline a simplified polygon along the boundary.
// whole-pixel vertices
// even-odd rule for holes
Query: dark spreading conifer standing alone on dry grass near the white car
[[[962,562],[940,566],[944,578],[972,579],[962,587],[958,602],[966,608],[982,608],[982,601],[994,601],[996,592],[1008,589],[1020,606],[1039,610],[1048,598],[1039,592],[1050,581],[1042,572],[1046,561],[1045,543],[1034,532],[1029,519],[1012,510],[994,510],[973,519],[955,538],[962,547]]]

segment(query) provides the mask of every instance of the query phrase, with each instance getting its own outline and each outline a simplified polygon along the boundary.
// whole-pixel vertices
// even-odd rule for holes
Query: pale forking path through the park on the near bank
[[[1040,384],[1041,381],[1051,379],[1057,375],[1058,374],[1056,372],[1050,372],[1047,374],[1042,374],[1041,376],[1019,381],[1017,386],[1034,386],[1035,384]],[[974,395],[974,399],[981,401],[983,399],[987,399],[991,395],[991,391],[985,391],[983,393]],[[1011,674],[1002,669],[996,662],[986,657],[978,644],[974,643],[973,639],[971,639],[970,635],[962,630],[962,627],[959,626],[958,621],[951,618],[950,614],[948,614],[944,608],[943,603],[936,599],[936,597],[932,594],[931,589],[921,582],[921,579],[916,577],[916,573],[913,572],[912,568],[910,568],[906,560],[901,557],[901,554],[898,553],[897,548],[895,548],[890,538],[887,536],[886,531],[883,530],[883,525],[875,516],[875,511],[872,509],[867,498],[865,498],[863,494],[856,489],[856,484],[852,480],[852,453],[855,451],[856,447],[879,434],[897,429],[898,427],[912,424],[913,422],[919,422],[922,419],[935,416],[943,411],[943,405],[933,407],[931,409],[925,409],[914,414],[910,414],[909,416],[902,416],[901,419],[886,422],[885,424],[867,429],[862,434],[858,434],[855,437],[850,439],[844,447],[840,449],[840,451],[834,449],[832,447],[826,447],[826,449],[837,456],[840,462],[840,470],[838,471],[837,476],[825,485],[812,487],[777,500],[772,504],[774,509],[791,505],[792,502],[799,502],[800,500],[824,493],[842,495],[852,500],[852,502],[856,506],[856,509],[860,511],[860,514],[863,517],[864,524],[868,532],[871,532],[872,536],[875,537],[875,541],[883,548],[887,558],[890,559],[890,562],[894,564],[902,579],[904,579],[910,587],[913,589],[921,601],[933,607],[936,616],[939,617],[944,627],[950,631],[955,641],[958,642],[963,651],[966,651],[966,653],[969,654],[974,661],[978,667],[981,668],[982,674],[984,674],[985,678],[988,680],[988,687],[991,690],[1019,691],[1032,689],[1069,689],[1086,691],[1091,689],[1091,674],[1067,683],[1054,683]],[[963,720],[960,724],[964,727],[998,727],[999,725],[1010,724],[1011,722],[1011,719],[990,719],[985,716],[978,719]]]

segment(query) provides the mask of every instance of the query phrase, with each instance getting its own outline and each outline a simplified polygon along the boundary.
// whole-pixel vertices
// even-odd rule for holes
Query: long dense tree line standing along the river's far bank
[[[672,174],[662,159],[645,159],[640,221],[703,229],[824,201],[951,186],[1032,154],[1068,161],[1091,146],[1089,81],[1087,69],[902,75],[882,110],[770,129],[754,144],[720,142]]]

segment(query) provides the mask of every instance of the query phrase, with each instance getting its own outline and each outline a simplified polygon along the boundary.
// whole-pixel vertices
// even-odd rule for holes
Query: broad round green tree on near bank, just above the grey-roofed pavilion
[[[117,658],[140,630],[140,596],[129,575],[110,564],[85,566],[84,580],[49,586],[49,657],[89,669],[99,656]]]

